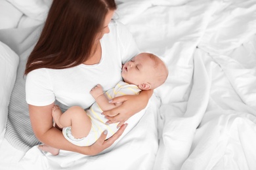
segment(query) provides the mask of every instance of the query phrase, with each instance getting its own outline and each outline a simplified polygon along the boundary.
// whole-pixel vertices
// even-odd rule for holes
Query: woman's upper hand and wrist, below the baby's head
[[[125,122],[131,116],[144,109],[154,90],[142,90],[139,95],[123,95],[112,99],[111,103],[123,103],[112,110],[104,111],[102,114],[109,120],[108,123]]]

